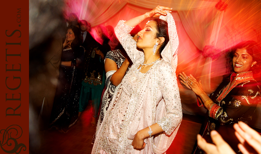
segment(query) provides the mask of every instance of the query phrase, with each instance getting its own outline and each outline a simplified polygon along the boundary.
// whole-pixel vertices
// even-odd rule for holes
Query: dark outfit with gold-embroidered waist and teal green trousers
[[[79,112],[84,111],[88,104],[88,100],[92,100],[93,113],[92,116],[98,116],[99,106],[101,102],[102,90],[105,86],[104,61],[100,55],[95,54],[95,48],[99,49],[104,57],[110,46],[107,43],[99,44],[95,39],[90,39],[84,53],[84,72],[83,81],[81,82],[81,92],[79,101]]]

